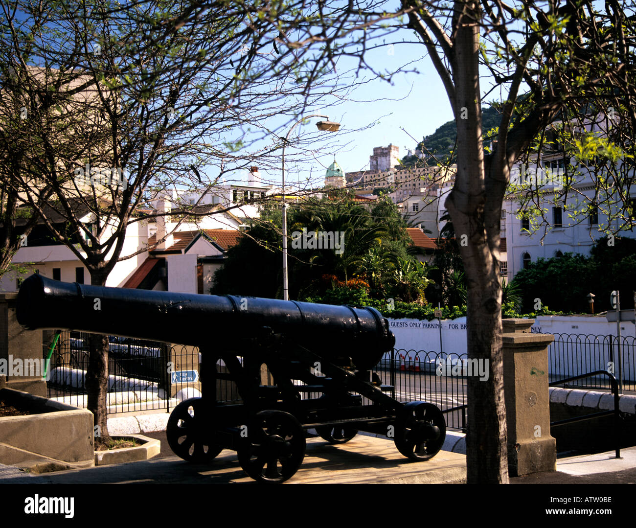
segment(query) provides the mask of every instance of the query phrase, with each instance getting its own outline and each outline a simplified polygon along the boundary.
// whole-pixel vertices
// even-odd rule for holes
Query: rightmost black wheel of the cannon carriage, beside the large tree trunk
[[[446,421],[438,406],[424,401],[404,405],[396,419],[397,450],[415,461],[429,460],[438,454],[446,438]]]

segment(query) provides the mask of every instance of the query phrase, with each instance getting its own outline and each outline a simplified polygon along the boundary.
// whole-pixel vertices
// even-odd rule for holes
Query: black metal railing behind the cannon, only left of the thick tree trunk
[[[86,406],[85,377],[90,335],[62,331],[48,366],[48,396]],[[45,344],[45,358],[50,342]],[[170,412],[183,399],[200,396],[198,347],[109,337],[109,413],[139,410]],[[429,401],[441,408],[449,429],[466,431],[466,354],[394,350],[375,369],[394,387],[399,401]],[[240,358],[239,358],[240,359]],[[463,360],[463,361],[462,361]],[[219,361],[216,399],[240,402],[238,388],[223,376]],[[317,398],[319,393],[305,393]]]

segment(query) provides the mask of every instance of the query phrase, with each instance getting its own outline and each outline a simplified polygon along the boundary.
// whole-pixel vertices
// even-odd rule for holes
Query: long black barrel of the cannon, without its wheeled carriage
[[[388,321],[370,307],[107,288],[37,274],[20,287],[17,319],[27,330],[68,328],[237,354],[249,353],[265,329],[336,364],[350,358],[363,370],[395,344]]]

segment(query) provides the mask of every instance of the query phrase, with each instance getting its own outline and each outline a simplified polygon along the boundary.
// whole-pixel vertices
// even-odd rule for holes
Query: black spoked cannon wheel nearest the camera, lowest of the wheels
[[[260,411],[248,426],[247,441],[239,447],[240,466],[258,482],[285,482],[300,468],[306,445],[303,428],[293,415]]]

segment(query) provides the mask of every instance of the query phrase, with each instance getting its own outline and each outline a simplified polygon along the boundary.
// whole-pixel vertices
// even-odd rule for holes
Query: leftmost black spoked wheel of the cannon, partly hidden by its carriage
[[[209,424],[204,415],[202,398],[185,399],[168,419],[165,434],[174,454],[193,464],[211,462],[223,447],[207,440]]]

